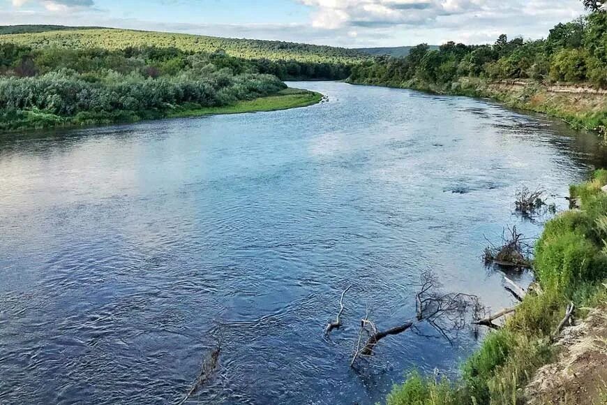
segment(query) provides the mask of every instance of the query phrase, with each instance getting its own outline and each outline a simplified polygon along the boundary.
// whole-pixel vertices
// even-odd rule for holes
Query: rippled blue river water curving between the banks
[[[412,318],[426,270],[511,304],[484,237],[537,235],[518,186],[563,209],[605,163],[594,135],[486,101],[292,86],[329,101],[1,138],[0,403],[175,403],[218,339],[188,403],[373,404],[406,370],[454,374],[472,332],[407,331],[350,368],[366,309]]]

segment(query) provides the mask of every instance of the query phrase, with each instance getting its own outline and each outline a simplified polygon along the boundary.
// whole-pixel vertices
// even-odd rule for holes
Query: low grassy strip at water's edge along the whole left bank
[[[199,117],[204,115],[237,114],[241,112],[262,112],[306,107],[319,103],[322,94],[301,89],[283,89],[275,94],[243,100],[218,107],[204,107],[196,103],[167,105],[165,109],[142,111],[101,112],[98,114],[79,113],[73,116],[61,116],[43,110],[22,110],[4,119],[0,132],[28,131],[47,128],[74,128],[79,126],[97,126],[137,122],[147,119],[177,117]]]

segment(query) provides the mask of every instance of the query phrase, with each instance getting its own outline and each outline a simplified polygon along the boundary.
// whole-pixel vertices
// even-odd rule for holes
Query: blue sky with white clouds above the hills
[[[387,47],[545,38],[580,0],[0,0],[0,25],[61,24]]]

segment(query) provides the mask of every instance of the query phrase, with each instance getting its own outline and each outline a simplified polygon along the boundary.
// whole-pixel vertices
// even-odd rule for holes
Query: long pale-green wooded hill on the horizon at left
[[[343,47],[289,43],[277,40],[219,38],[190,34],[171,34],[128,29],[93,27],[13,26],[0,27],[0,43],[10,42],[31,47],[98,47],[119,50],[126,47],[177,47],[186,52],[224,50],[244,59],[295,60],[299,62],[355,64],[369,59],[368,54]]]

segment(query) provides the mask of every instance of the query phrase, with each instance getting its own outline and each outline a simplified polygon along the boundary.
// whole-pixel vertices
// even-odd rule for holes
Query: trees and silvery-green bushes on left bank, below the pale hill
[[[95,30],[79,32],[89,31]],[[335,79],[349,72],[343,65],[250,60],[179,47],[31,45],[0,43],[0,131],[307,105],[317,96],[244,102],[285,89],[279,78]]]

